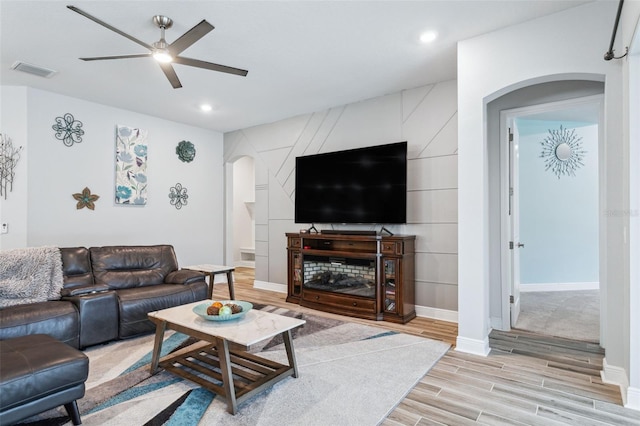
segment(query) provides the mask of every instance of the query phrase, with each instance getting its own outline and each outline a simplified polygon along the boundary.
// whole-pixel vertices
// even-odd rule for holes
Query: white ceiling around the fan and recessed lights
[[[24,85],[226,132],[456,78],[456,42],[588,1],[7,1],[0,2],[0,83]],[[171,43],[215,26],[182,56],[247,77],[174,65],[173,89],[138,44],[67,9],[72,4],[151,44],[152,16],[174,20]],[[423,31],[435,43],[423,45]],[[508,52],[496,52],[507,55]],[[58,71],[43,78],[15,61]],[[490,60],[490,58],[487,58]],[[213,110],[201,112],[201,103]]]

